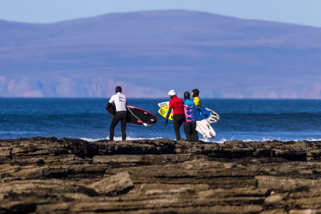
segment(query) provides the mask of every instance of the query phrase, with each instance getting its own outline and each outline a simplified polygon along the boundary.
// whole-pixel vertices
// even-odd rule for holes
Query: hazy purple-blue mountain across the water
[[[2,97],[321,98],[321,28],[165,10],[0,32]]]

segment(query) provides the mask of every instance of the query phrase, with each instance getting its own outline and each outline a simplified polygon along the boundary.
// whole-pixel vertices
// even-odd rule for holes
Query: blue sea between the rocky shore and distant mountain
[[[158,114],[164,99],[128,99],[128,104],[158,116],[151,126],[127,124],[127,140],[175,139],[173,124],[165,125]],[[0,98],[0,138],[43,137],[81,138],[88,141],[109,139],[112,116],[107,98]],[[321,139],[321,100],[202,99],[202,104],[220,115],[211,124],[215,139],[204,141],[302,141]],[[183,126],[181,136],[185,138]],[[121,140],[120,124],[115,140]]]

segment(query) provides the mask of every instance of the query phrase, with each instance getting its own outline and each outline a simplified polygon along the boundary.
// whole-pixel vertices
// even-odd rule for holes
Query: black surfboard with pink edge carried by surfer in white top
[[[115,116],[116,114],[116,107],[105,107],[106,110],[111,114],[112,116]],[[128,106],[127,105],[127,123],[135,124],[135,125],[153,125],[157,123],[157,116],[154,114],[134,106]]]

